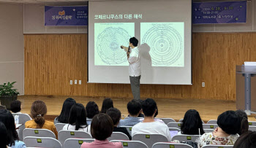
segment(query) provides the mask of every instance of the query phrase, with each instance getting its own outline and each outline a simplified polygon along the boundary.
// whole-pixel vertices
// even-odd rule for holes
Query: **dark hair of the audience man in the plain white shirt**
[[[157,103],[152,98],[147,98],[142,103],[142,110],[146,117],[152,117],[156,112]]]

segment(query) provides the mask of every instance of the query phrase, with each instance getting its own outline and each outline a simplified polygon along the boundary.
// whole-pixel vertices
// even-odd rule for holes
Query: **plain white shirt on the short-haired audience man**
[[[132,136],[135,134],[157,133],[166,136],[171,141],[170,131],[167,125],[161,122],[139,122],[132,127]]]

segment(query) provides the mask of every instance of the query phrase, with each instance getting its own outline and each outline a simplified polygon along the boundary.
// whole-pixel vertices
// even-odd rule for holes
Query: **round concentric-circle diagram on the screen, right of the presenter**
[[[183,39],[175,28],[165,24],[154,24],[143,36],[148,44],[152,66],[170,66],[181,57],[184,50]]]

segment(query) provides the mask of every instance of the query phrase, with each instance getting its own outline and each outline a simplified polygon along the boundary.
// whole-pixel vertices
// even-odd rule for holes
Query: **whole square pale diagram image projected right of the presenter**
[[[150,47],[151,66],[184,67],[184,23],[141,23],[142,44]]]

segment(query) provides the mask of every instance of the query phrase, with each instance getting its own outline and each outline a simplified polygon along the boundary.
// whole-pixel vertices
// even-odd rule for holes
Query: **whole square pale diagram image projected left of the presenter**
[[[129,26],[132,25],[133,26]],[[102,23],[95,24],[98,30],[96,41],[97,56],[95,65],[99,66],[128,66],[127,53],[120,46],[127,46],[129,38],[134,35],[134,23]],[[128,25],[128,27],[127,27]],[[132,29],[133,28],[133,29]],[[102,29],[102,31],[99,31]],[[129,32],[133,30],[133,34]]]

